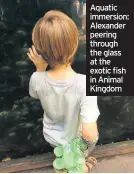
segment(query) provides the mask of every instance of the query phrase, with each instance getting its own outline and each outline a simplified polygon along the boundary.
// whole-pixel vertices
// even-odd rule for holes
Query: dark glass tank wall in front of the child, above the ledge
[[[61,10],[78,25],[80,44],[73,68],[85,74],[86,40],[77,8],[73,0],[0,0],[0,160],[52,151],[43,138],[40,102],[28,93],[35,68],[26,53],[35,22],[49,10]],[[133,96],[98,97],[98,105],[98,144],[134,138]]]

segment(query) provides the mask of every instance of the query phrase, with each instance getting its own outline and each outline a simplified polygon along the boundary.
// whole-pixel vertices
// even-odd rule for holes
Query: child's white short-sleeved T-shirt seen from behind
[[[97,96],[86,96],[86,75],[58,82],[47,71],[34,72],[29,93],[41,102],[44,138],[53,146],[67,144],[78,135],[81,122],[96,122],[100,114]]]

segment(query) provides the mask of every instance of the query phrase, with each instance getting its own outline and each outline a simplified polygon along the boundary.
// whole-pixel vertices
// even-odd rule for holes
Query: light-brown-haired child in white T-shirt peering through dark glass
[[[97,97],[86,96],[86,75],[71,65],[78,48],[78,29],[67,15],[49,11],[36,23],[28,56],[36,66],[29,93],[39,99],[44,110],[43,134],[53,147],[67,144],[79,135],[88,144],[88,156],[98,140]],[[47,66],[50,70],[46,71]],[[81,122],[80,122],[81,116]],[[85,172],[96,159],[87,157]]]

